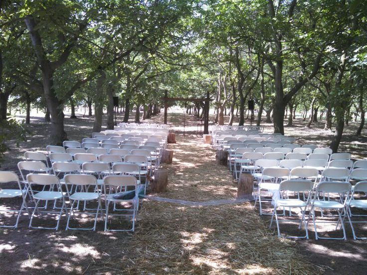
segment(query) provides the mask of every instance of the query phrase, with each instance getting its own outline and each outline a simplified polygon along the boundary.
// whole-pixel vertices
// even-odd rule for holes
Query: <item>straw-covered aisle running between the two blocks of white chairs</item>
[[[177,137],[162,197],[190,201],[234,198],[235,182],[196,137]],[[144,201],[131,248],[131,274],[312,274],[290,241],[269,234],[249,203],[186,207]],[[130,249],[131,249],[130,248]]]

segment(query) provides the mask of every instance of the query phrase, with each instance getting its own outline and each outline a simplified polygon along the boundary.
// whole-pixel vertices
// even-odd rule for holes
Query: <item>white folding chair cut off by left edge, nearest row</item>
[[[4,185],[10,182],[16,182],[18,184],[18,188],[17,189],[5,189]],[[0,209],[0,219],[1,219],[1,225],[0,227],[7,227],[7,228],[17,228],[18,227],[18,222],[20,219],[20,216],[22,214],[23,211],[27,211],[28,212],[28,207],[25,201],[25,196],[27,193],[27,188],[24,185],[24,187],[21,186],[20,181],[18,176],[14,173],[14,172],[8,172],[8,171],[0,171],[0,200],[1,200],[1,204],[4,203],[4,199],[11,199],[13,200],[14,198],[22,198],[22,203],[20,206],[19,210],[14,210],[14,209],[9,209],[9,207],[4,207],[4,210]],[[1,212],[3,213],[17,213],[16,215],[16,220],[15,223],[13,225],[8,225],[8,223],[5,223],[5,221],[3,220],[4,215],[1,214]],[[29,212],[28,212],[29,215]]]

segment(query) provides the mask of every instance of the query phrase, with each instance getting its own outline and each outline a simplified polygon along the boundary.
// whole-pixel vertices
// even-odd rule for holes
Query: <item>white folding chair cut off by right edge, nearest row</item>
[[[350,225],[352,227],[353,238],[355,240],[357,240],[357,239],[366,240],[367,237],[357,237],[355,228],[353,226],[354,223],[367,223],[366,220],[352,221],[352,217],[353,216],[360,216],[360,217],[361,216],[362,217],[366,217],[367,216],[367,215],[352,214],[352,209],[353,208],[359,208],[359,209],[365,209],[365,210],[367,209],[367,199],[366,199],[366,196],[364,198],[358,198],[358,197],[356,197],[356,192],[363,192],[366,195],[366,193],[367,193],[367,181],[366,180],[363,180],[363,181],[360,181],[360,182],[357,182],[356,183],[356,185],[353,188],[351,198],[348,201],[349,213],[350,213],[350,215],[348,216],[348,218],[349,218],[349,223],[350,223]]]

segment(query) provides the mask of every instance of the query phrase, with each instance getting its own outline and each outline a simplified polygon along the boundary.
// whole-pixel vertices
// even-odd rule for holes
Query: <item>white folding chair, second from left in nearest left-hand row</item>
[[[34,210],[30,217],[29,228],[57,230],[59,227],[62,213],[65,212],[66,215],[68,214],[67,209],[66,209],[66,204],[65,204],[64,193],[62,192],[59,178],[55,175],[50,175],[50,174],[32,174],[31,173],[27,175],[27,182],[28,182],[29,191],[31,193],[31,197],[35,205]],[[43,186],[42,191],[39,191],[39,192],[33,191],[32,186],[34,184]],[[48,190],[46,190],[47,188]],[[55,201],[56,202],[56,200],[60,200],[62,203],[61,207],[59,208],[60,209],[59,212],[46,211],[46,209],[44,211],[41,211],[38,207],[38,204],[40,201],[45,201],[45,202]],[[34,227],[32,226],[34,215],[38,214],[39,216],[41,216],[41,213],[47,213],[47,214],[57,214],[58,213],[56,226],[55,227],[41,227],[41,226]],[[46,215],[45,217],[48,217],[48,216],[49,215]]]

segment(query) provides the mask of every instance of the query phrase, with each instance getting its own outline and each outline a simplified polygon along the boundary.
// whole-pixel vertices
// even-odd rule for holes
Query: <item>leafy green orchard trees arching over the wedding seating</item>
[[[60,144],[66,106],[93,105],[98,132],[104,108],[114,127],[114,96],[127,122],[133,108],[157,112],[165,91],[209,91],[218,124],[228,109],[229,124],[236,113],[243,125],[249,99],[257,125],[272,113],[275,133],[296,110],[311,109],[308,127],[320,112],[336,151],[352,115],[357,135],[364,127],[366,11],[363,0],[3,0],[0,123],[10,99],[32,104],[47,110]],[[187,108],[200,116],[202,107]]]

